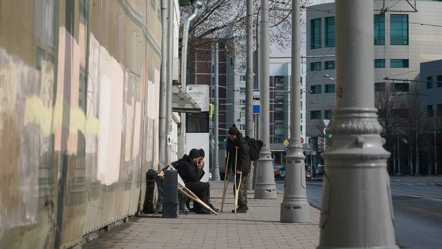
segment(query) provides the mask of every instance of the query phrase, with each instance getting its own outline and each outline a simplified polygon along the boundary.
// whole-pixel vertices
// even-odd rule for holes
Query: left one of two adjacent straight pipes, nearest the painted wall
[[[167,57],[167,1],[161,0],[161,73],[160,73],[160,120],[158,132],[160,134],[158,151],[158,169],[164,168],[166,147],[166,57]]]

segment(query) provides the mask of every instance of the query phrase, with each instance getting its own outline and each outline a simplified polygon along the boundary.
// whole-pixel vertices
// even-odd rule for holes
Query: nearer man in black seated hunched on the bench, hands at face
[[[206,203],[209,207],[213,208],[213,205],[209,203],[209,183],[202,183],[199,180],[204,175],[204,161],[199,161],[199,152],[196,149],[192,149],[188,155],[184,155],[183,158],[177,161],[175,166],[181,179],[183,179],[186,187],[189,188],[198,198]],[[196,214],[212,214],[197,202],[193,202],[193,211]],[[215,212],[217,212],[214,209]]]

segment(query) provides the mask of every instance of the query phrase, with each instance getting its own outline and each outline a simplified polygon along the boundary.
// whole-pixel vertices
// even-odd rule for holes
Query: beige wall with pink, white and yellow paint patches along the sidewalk
[[[159,0],[0,2],[0,248],[136,214],[158,165]]]

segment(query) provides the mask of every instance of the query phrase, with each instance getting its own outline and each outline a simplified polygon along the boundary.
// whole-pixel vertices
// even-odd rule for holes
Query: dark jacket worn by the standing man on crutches
[[[226,153],[229,156],[227,168],[231,168],[232,171],[235,170],[236,147],[238,147],[236,169],[243,171],[243,176],[247,176],[250,173],[249,144],[247,144],[247,141],[244,139],[241,133],[233,141],[231,141],[230,138],[227,137]]]

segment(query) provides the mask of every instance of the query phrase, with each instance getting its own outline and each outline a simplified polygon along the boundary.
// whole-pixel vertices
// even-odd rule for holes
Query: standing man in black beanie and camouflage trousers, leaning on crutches
[[[236,213],[247,213],[247,210],[249,210],[249,207],[247,206],[247,179],[250,173],[249,144],[243,138],[243,134],[239,132],[235,124],[233,124],[229,129],[226,150],[229,155],[226,174],[228,174],[230,169],[235,171],[236,163],[236,172],[234,172],[234,174],[237,174],[236,186],[240,186],[238,192],[238,208],[236,209]],[[239,174],[242,174],[241,182],[239,181]],[[235,188],[235,185],[233,185],[233,187]],[[234,193],[235,190],[236,189],[234,189]],[[235,210],[232,210],[232,213],[234,212]]]

